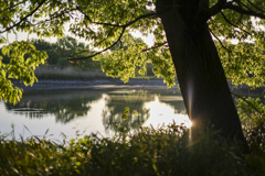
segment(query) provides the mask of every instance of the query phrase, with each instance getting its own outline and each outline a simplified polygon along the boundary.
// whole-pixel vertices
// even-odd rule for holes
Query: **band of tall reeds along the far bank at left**
[[[38,67],[35,69],[38,79],[63,79],[63,80],[86,80],[107,78],[100,70],[88,72],[74,68]]]

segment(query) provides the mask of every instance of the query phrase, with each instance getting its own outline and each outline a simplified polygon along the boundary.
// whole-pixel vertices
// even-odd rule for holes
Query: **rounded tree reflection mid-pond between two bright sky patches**
[[[103,125],[105,131],[109,132],[110,130],[120,131],[123,122],[125,130],[138,129],[150,117],[149,109],[145,108],[144,105],[147,101],[153,101],[155,96],[141,92],[139,97],[139,91],[127,95],[108,94],[105,100],[106,107],[102,113]],[[128,118],[124,121],[121,116],[125,107],[129,107],[130,112],[136,110],[137,114],[129,113]]]

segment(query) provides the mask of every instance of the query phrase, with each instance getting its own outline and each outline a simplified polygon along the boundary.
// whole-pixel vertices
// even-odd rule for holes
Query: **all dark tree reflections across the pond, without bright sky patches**
[[[55,121],[68,123],[75,118],[85,117],[91,110],[91,103],[106,96],[106,107],[103,110],[103,124],[106,132],[119,130],[125,107],[129,107],[130,112],[137,111],[137,116],[129,114],[124,121],[125,129],[137,129],[145,123],[149,117],[149,109],[145,108],[145,102],[155,100],[157,96],[160,102],[174,109],[176,113],[186,111],[180,91],[169,90],[120,90],[115,89],[88,89],[88,90],[60,90],[60,91],[35,91],[24,92],[23,99],[15,106],[6,103],[9,111],[26,116],[31,119],[40,119],[47,114],[55,116]],[[140,94],[140,97],[139,97]],[[138,99],[139,98],[139,99]],[[138,100],[138,101],[137,101]]]

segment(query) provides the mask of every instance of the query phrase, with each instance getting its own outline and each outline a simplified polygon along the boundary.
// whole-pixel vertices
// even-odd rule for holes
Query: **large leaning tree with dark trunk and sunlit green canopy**
[[[61,36],[70,22],[68,32],[102,50],[89,56],[72,55],[71,62],[94,57],[107,75],[127,81],[137,65],[149,61],[169,87],[177,74],[193,130],[210,122],[224,138],[244,141],[227,80],[257,87],[264,82],[265,70],[256,70],[264,67],[263,0],[14,0],[0,1],[0,33],[21,30],[40,37]],[[135,43],[127,51],[106,52],[136,30],[152,33],[153,46]],[[213,37],[220,42],[218,50]],[[256,45],[223,44],[222,37]],[[253,77],[245,77],[247,72]]]

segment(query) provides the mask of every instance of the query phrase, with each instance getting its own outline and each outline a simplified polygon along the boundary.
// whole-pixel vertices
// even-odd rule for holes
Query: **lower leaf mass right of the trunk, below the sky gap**
[[[216,45],[221,47],[220,44]],[[250,87],[263,87],[265,81],[264,50],[255,43],[237,45],[225,43],[224,46],[226,48],[220,48],[219,54],[227,80],[233,85],[246,84]]]

